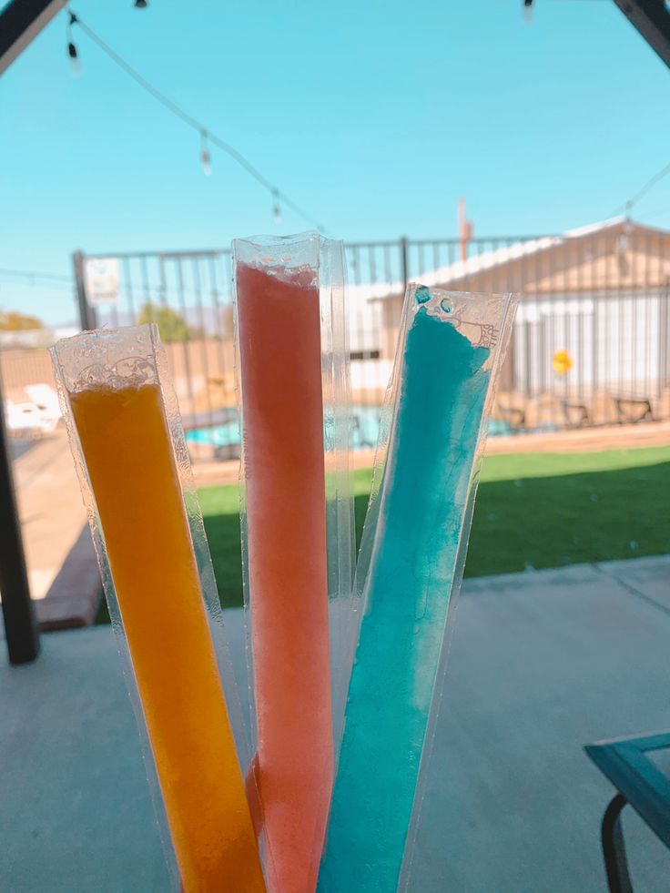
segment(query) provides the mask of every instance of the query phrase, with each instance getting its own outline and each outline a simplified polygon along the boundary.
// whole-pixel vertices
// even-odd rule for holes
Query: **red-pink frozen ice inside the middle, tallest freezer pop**
[[[332,786],[319,291],[236,271],[258,781],[276,893],[313,893]]]

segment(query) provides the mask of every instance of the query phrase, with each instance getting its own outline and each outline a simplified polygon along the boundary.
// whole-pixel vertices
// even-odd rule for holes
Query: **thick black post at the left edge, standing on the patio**
[[[21,523],[16,511],[16,496],[7,434],[5,409],[0,390],[0,596],[2,597],[5,635],[10,664],[28,664],[39,654],[39,633],[25,571],[21,542]]]

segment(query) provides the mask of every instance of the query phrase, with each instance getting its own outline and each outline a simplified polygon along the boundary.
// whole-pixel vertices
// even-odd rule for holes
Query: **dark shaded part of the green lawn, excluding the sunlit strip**
[[[664,554],[670,462],[606,472],[482,482],[466,577]],[[368,496],[354,499],[360,543]],[[242,604],[237,512],[205,518],[224,607]],[[98,623],[108,622],[103,603]]]

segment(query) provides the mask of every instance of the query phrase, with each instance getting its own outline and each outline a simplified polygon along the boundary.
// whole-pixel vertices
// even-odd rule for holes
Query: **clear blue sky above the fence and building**
[[[670,160],[668,73],[610,0],[76,0],[168,96],[345,239],[554,232],[609,216]],[[289,12],[290,10],[290,12]],[[76,248],[196,249],[295,232],[231,159],[58,15],[0,79],[0,268]],[[670,227],[670,177],[634,210]],[[57,322],[71,294],[0,275],[0,308]]]

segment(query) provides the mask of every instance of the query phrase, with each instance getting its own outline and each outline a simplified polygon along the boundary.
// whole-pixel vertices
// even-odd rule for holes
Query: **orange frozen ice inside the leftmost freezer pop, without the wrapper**
[[[265,890],[157,385],[71,394],[185,893]]]

